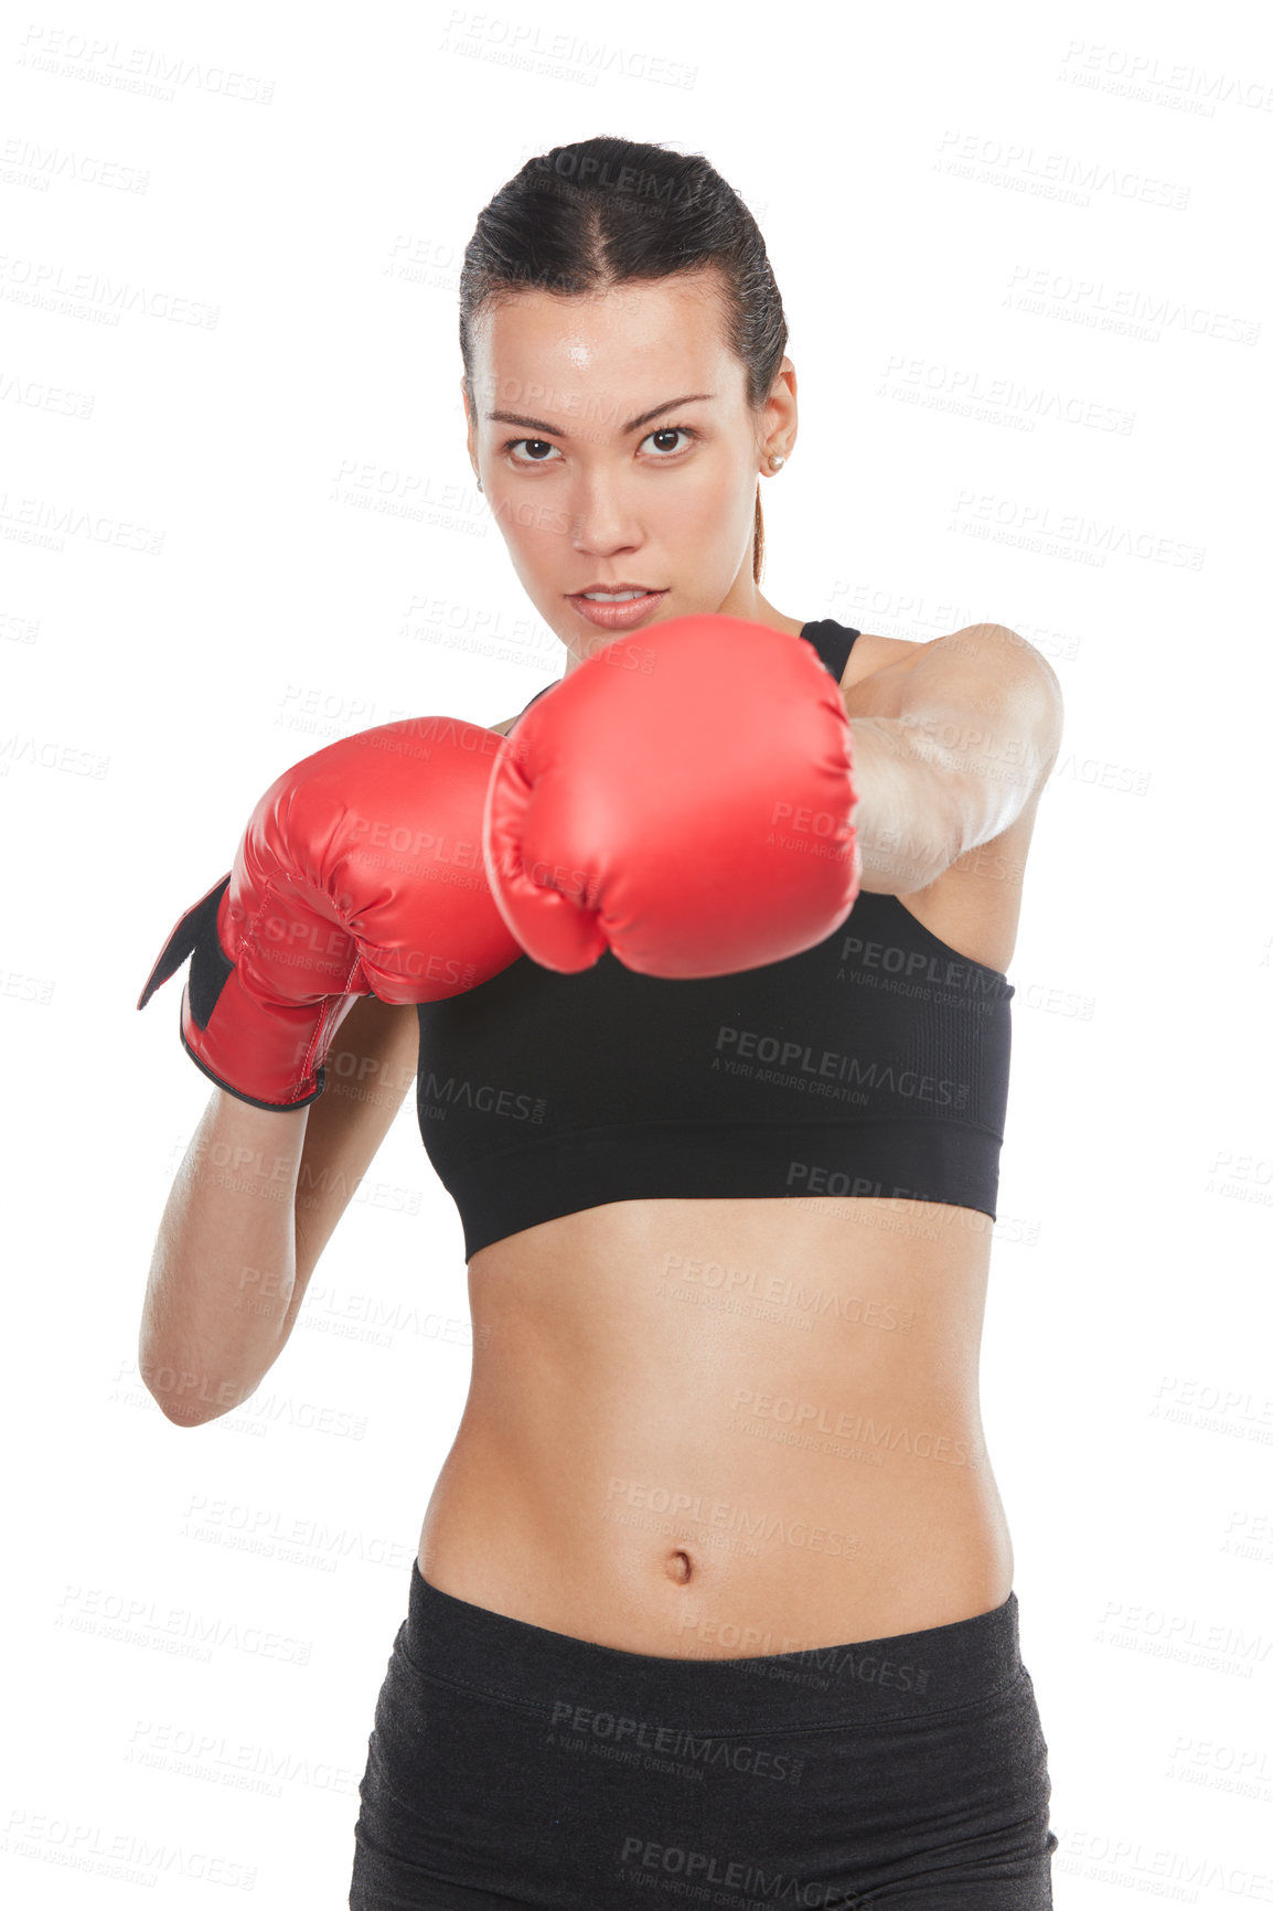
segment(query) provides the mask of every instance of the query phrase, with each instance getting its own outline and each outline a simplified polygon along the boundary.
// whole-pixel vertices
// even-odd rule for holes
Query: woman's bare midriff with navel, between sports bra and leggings
[[[661,1657],[1002,1605],[977,1385],[990,1229],[914,1200],[633,1200],[482,1248],[421,1573]]]

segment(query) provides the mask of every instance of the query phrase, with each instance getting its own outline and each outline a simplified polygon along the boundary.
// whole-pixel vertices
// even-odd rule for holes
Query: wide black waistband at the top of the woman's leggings
[[[1021,1672],[1017,1594],[973,1619],[753,1659],[629,1653],[432,1586],[411,1561],[407,1651],[417,1670],[564,1724],[579,1708],[625,1729],[797,1731],[921,1718],[1005,1691]],[[577,1724],[577,1720],[573,1720]],[[615,1724],[617,1733],[617,1724]]]

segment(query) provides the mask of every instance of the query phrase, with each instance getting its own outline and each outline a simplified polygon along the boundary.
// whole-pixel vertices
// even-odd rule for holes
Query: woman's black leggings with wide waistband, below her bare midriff
[[[377,1701],[352,1911],[1049,1911],[1017,1594],[950,1626],[658,1659],[424,1580]]]

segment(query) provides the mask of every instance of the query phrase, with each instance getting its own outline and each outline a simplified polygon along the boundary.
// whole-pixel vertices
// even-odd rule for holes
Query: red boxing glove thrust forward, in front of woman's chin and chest
[[[598,650],[518,719],[482,847],[501,915],[545,969],[610,948],[640,975],[734,975],[845,921],[854,806],[849,719],[812,646],[675,617]]]

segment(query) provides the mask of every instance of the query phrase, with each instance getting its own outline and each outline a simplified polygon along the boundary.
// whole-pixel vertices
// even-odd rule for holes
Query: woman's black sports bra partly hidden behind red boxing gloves
[[[856,636],[801,631],[837,680]],[[617,1200],[852,1194],[994,1219],[1013,996],[868,891],[826,942],[738,975],[520,956],[419,1005],[421,1137],[464,1259]]]

